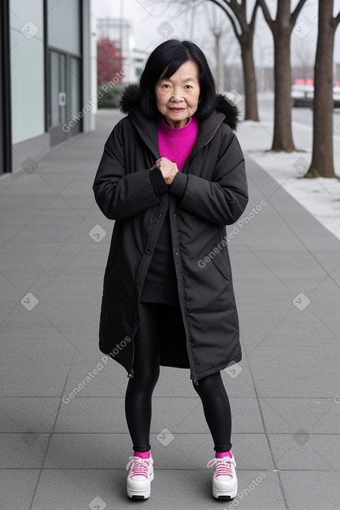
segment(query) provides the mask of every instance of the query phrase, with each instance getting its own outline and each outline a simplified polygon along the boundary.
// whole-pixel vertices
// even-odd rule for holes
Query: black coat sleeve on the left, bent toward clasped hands
[[[159,203],[160,186],[152,183],[149,172],[147,168],[127,174],[118,122],[106,140],[92,186],[95,200],[109,220],[124,220]],[[165,181],[163,186],[167,191]]]

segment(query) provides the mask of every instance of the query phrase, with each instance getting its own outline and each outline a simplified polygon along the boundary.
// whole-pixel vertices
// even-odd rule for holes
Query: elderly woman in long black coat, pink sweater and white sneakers
[[[127,115],[106,140],[93,190],[115,220],[99,349],[129,377],[127,495],[150,495],[152,393],[163,365],[190,369],[214,443],[213,497],[229,500],[236,463],[220,370],[241,360],[241,345],[225,225],[248,204],[238,110],[216,92],[200,48],[179,40],[152,51],[120,107]]]

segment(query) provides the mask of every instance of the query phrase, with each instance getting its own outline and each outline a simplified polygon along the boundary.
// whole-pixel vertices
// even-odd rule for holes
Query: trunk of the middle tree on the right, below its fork
[[[277,27],[274,36],[275,108],[272,151],[295,151],[291,130],[291,28]]]

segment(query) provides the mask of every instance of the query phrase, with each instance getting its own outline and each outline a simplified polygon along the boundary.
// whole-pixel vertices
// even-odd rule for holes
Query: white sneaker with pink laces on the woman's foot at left
[[[150,495],[150,482],[154,479],[154,459],[151,453],[149,459],[138,456],[129,457],[127,469],[127,495],[133,500],[146,500]]]

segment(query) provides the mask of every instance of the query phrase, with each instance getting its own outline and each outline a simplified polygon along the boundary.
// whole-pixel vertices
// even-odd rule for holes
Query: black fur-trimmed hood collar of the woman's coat
[[[127,85],[122,92],[119,103],[120,111],[129,115],[144,142],[149,145],[156,155],[158,155],[157,120],[144,115],[140,108],[139,85],[135,83]],[[234,131],[236,131],[238,114],[239,110],[236,106],[229,103],[224,95],[217,94],[215,110],[213,110],[207,119],[200,121],[200,131],[195,147],[198,149],[199,147],[206,145],[222,122],[225,122],[225,124],[228,124]]]

